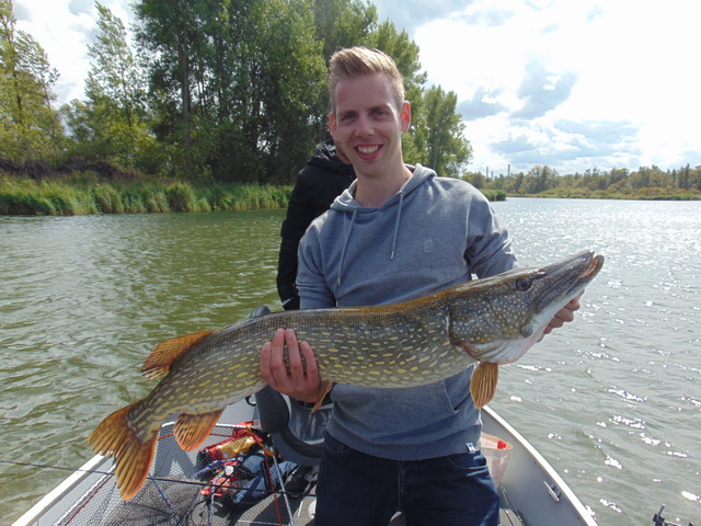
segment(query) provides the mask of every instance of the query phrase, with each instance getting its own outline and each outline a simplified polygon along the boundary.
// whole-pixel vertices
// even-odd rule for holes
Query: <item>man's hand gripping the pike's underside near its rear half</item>
[[[285,346],[289,369],[285,364]],[[324,389],[311,345],[299,343],[292,329],[278,329],[273,341],[263,344],[261,376],[276,391],[303,402],[315,402]]]

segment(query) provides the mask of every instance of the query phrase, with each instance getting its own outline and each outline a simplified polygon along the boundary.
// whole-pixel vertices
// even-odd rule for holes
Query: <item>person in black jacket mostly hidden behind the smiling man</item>
[[[299,309],[297,294],[297,248],[313,219],[329,209],[333,199],[355,180],[350,161],[329,139],[317,148],[297,174],[283,221],[277,262],[277,294],[285,310]]]

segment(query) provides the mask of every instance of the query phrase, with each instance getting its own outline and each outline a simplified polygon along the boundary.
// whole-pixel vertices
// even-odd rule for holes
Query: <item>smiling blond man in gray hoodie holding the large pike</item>
[[[330,95],[329,127],[357,179],[302,238],[301,308],[393,304],[517,266],[505,228],[474,187],[404,164],[401,135],[411,106],[390,57],[337,52]],[[551,325],[571,321],[577,308],[573,301]],[[261,373],[294,398],[324,395],[313,350],[297,342],[294,328],[263,346]],[[410,525],[497,524],[471,374],[406,389],[336,385],[315,524],[387,525],[397,510]]]

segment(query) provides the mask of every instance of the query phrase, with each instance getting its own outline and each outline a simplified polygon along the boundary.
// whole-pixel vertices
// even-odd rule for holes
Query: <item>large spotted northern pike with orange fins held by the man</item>
[[[412,387],[479,362],[471,393],[481,408],[494,395],[497,365],[520,358],[602,264],[604,256],[581,252],[401,304],[276,312],[168,340],[141,369],[160,382],[142,400],[107,416],[89,444],[115,457],[119,493],[131,499],[148,476],[165,419],[180,414],[175,439],[193,450],[228,404],[265,386],[261,347],[278,328],[291,328],[300,342],[309,342],[325,382]]]

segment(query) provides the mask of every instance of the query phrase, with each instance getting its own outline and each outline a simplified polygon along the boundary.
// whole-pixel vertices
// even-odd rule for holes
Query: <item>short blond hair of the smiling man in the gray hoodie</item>
[[[379,49],[356,46],[334,53],[329,62],[329,96],[331,113],[336,112],[335,90],[340,81],[360,75],[384,73],[390,79],[397,108],[404,103],[404,79],[392,57]]]

